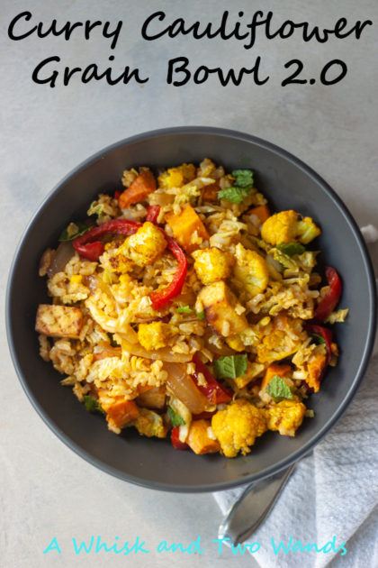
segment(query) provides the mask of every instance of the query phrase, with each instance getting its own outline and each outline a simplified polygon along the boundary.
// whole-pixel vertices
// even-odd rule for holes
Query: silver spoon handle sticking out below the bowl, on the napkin
[[[265,480],[248,485],[229,508],[219,527],[218,538],[229,538],[233,545],[247,540],[274,507],[275,501],[293,472],[294,465]]]

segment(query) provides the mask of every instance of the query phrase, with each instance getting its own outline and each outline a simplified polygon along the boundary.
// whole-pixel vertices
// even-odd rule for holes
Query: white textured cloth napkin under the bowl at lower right
[[[361,232],[366,243],[378,242],[374,225],[362,227]],[[299,563],[306,568],[378,567],[377,355],[376,340],[365,380],[346,415],[311,454],[297,463],[275,508],[249,537],[248,543],[260,544],[253,554],[260,566],[293,568]],[[213,493],[223,514],[246,487]],[[286,546],[290,536],[293,543],[316,543],[319,548],[335,536],[336,547],[345,543],[347,554],[341,555],[341,549],[328,554],[311,550],[275,555],[271,538],[276,545],[282,541]]]

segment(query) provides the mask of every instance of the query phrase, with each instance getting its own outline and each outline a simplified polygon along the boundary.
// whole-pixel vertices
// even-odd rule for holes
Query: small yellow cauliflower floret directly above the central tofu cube
[[[202,284],[211,284],[217,280],[229,277],[233,264],[233,257],[229,252],[220,251],[215,247],[199,249],[192,252],[194,270]]]

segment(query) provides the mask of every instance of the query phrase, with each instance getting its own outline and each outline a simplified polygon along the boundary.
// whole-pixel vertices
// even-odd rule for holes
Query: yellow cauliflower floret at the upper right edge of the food
[[[320,228],[311,217],[303,217],[290,211],[280,211],[266,219],[261,227],[261,236],[269,244],[300,242],[308,244],[320,234]]]

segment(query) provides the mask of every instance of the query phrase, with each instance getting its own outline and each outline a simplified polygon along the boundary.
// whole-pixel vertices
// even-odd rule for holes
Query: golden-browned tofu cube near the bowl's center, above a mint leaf
[[[208,324],[217,334],[229,337],[247,329],[246,316],[238,314],[235,309],[238,303],[236,296],[222,280],[202,288],[198,298]]]

